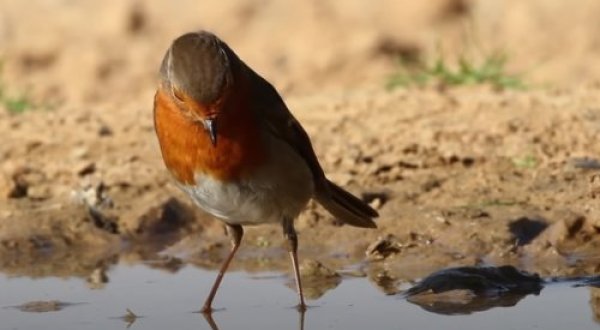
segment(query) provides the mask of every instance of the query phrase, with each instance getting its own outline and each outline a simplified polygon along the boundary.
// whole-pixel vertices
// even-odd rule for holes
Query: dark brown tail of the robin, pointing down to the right
[[[317,189],[316,199],[329,213],[346,224],[363,228],[377,227],[373,221],[379,216],[377,211],[327,179]]]

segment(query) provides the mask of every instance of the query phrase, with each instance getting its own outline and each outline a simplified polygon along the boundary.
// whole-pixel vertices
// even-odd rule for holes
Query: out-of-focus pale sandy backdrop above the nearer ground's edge
[[[151,103],[169,42],[214,31],[286,94],[384,84],[398,66],[501,52],[531,83],[600,74],[595,0],[2,0],[1,79],[35,103]]]

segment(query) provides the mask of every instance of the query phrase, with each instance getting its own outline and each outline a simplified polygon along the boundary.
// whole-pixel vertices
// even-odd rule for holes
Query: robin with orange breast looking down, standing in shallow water
[[[301,310],[294,219],[308,201],[314,198],[346,224],[376,227],[374,209],[325,177],[308,135],[275,88],[210,32],[184,34],[167,50],[154,124],[177,185],[222,220],[231,238],[202,312],[212,311],[242,226],[281,224]]]

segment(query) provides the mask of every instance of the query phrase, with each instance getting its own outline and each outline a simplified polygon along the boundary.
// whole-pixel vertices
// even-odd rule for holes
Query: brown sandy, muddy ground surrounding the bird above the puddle
[[[169,41],[206,28],[282,92],[329,177],[381,213],[361,230],[310,204],[302,258],[358,263],[384,291],[458,265],[597,273],[599,16],[594,0],[4,1],[0,270],[94,283],[118,260],[219,264],[223,227],[173,186],[151,118]],[[527,89],[385,88],[399,57],[495,50]],[[9,111],[23,95],[31,109]],[[287,270],[281,243],[277,226],[249,228],[232,267]]]

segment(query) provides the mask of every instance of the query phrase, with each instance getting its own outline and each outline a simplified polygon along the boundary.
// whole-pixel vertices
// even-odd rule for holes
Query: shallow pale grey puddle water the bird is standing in
[[[228,273],[215,300],[220,330],[297,329],[296,294],[283,276]],[[143,318],[131,329],[210,329],[200,308],[215,274],[185,267],[175,274],[143,265],[115,267],[110,282],[89,289],[82,279],[0,276],[0,306],[36,300],[76,305],[58,312],[25,313],[0,309],[0,329],[125,329],[118,319],[131,309]],[[346,278],[334,290],[309,301],[305,329],[596,329],[588,288],[552,285],[515,307],[463,316],[424,311],[397,296],[385,296],[366,278]],[[82,303],[82,304],[77,304]]]

